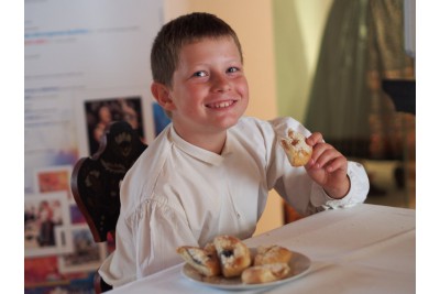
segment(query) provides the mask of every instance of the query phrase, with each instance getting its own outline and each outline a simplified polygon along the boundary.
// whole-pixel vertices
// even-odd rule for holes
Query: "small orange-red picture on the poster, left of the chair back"
[[[70,189],[72,165],[48,166],[35,170],[35,192],[38,194],[66,192],[67,202],[75,204]]]

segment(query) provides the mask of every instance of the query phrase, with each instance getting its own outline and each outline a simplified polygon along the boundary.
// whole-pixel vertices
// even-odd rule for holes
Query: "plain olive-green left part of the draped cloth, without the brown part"
[[[367,0],[334,0],[323,32],[306,126],[342,152],[363,153],[370,138]],[[358,154],[356,154],[358,155]]]

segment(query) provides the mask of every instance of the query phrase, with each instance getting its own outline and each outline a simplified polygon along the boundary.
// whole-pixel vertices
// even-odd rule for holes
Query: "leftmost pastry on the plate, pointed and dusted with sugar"
[[[208,243],[205,249],[182,246],[176,251],[190,266],[205,276],[216,276],[221,273],[220,261],[212,243]]]

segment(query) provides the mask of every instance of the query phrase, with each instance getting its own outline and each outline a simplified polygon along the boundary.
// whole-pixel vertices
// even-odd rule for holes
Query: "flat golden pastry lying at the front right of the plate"
[[[290,272],[287,263],[270,263],[248,268],[241,274],[241,281],[244,284],[262,284],[279,281],[286,277]]]

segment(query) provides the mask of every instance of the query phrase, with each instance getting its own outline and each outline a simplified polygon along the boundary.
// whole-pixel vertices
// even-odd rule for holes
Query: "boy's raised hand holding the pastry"
[[[319,132],[312,133],[306,142],[314,148],[311,159],[305,166],[309,176],[322,186],[330,197],[345,196],[350,190],[345,156],[332,145],[324,143]]]

